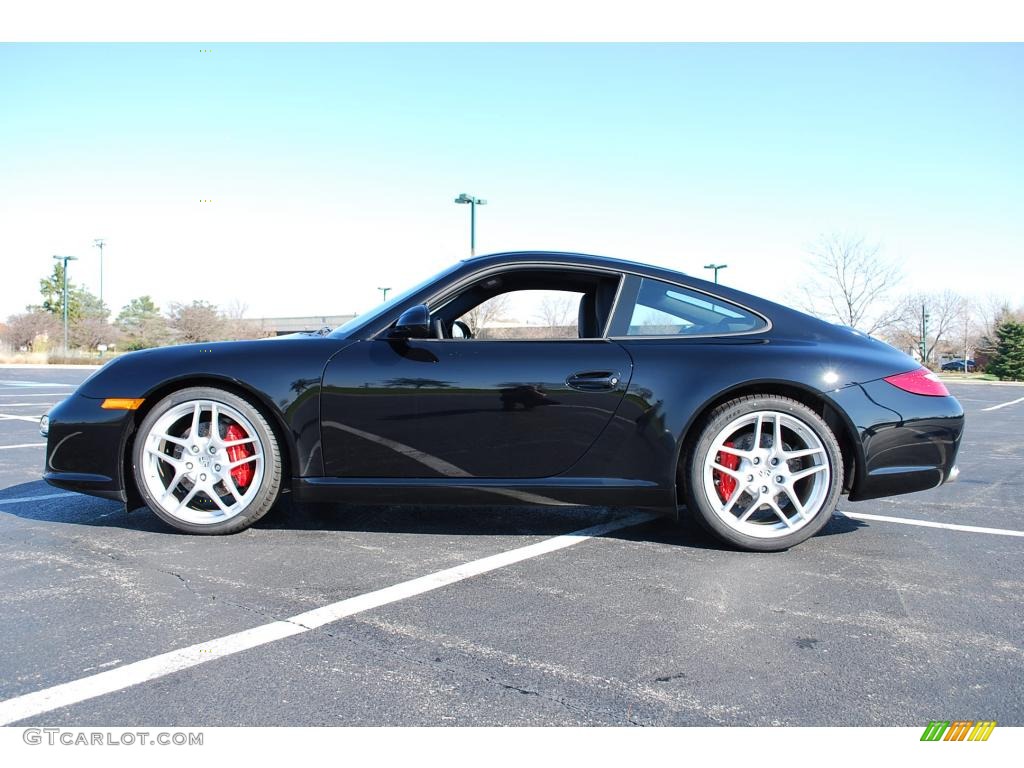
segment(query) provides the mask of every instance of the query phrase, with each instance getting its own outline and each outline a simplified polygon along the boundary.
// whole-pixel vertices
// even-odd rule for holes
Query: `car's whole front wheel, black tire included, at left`
[[[212,387],[181,389],[153,408],[136,432],[132,471],[146,506],[187,534],[243,530],[281,493],[270,425],[249,400]]]

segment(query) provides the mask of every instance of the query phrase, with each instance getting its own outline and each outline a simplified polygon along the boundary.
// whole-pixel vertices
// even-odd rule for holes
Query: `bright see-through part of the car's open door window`
[[[508,291],[458,319],[469,326],[476,339],[578,339],[583,296],[574,291]]]

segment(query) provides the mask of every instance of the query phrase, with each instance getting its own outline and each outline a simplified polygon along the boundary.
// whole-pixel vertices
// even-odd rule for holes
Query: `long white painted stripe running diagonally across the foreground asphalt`
[[[456,565],[454,568],[445,568],[409,582],[401,582],[375,592],[368,592],[365,595],[356,595],[280,622],[253,627],[233,635],[225,635],[215,640],[189,645],[187,648],[179,648],[159,656],[143,658],[140,662],[54,685],[34,693],[8,698],[6,701],[0,701],[0,725],[8,725],[35,715],[52,712],[61,707],[70,707],[105,693],[113,693],[181,670],[187,670],[204,662],[222,658],[250,648],[266,645],[274,640],[309,632],[345,616],[404,600],[415,595],[422,595],[549,552],[572,547],[594,537],[647,522],[654,517],[653,514],[641,512],[611,522],[593,525],[525,547],[482,557],[479,560],[472,560],[462,565]]]

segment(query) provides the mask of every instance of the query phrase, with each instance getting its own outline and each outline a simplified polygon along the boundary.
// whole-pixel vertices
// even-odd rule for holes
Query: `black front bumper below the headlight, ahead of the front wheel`
[[[43,479],[66,490],[126,501],[125,441],[131,415],[73,394],[49,412]]]

